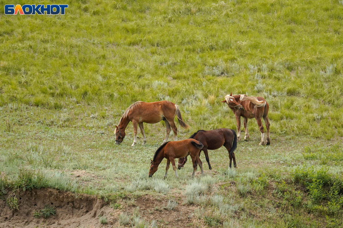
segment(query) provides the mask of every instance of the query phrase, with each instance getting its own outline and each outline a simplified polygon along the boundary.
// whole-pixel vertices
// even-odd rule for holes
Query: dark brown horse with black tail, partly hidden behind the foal
[[[199,130],[196,133],[192,134],[191,137],[189,138],[194,138],[198,140],[204,147],[201,149],[204,151],[205,158],[207,163],[209,164],[209,169],[211,170],[211,164],[210,164],[210,159],[209,159],[209,154],[207,150],[216,150],[219,149],[222,146],[225,146],[227,149],[227,152],[229,152],[229,159],[230,159],[230,168],[231,168],[231,163],[232,159],[234,160],[234,167],[236,166],[236,158],[235,158],[235,149],[237,147],[237,136],[236,132],[232,129],[227,129],[227,128],[221,128],[221,129],[216,129],[216,130],[211,130],[211,131],[204,131],[204,130]],[[201,151],[200,151],[201,152]],[[200,154],[199,154],[200,157]],[[181,169],[184,167],[184,165],[187,162],[187,157],[185,158],[179,158],[179,161],[177,163],[178,169]]]

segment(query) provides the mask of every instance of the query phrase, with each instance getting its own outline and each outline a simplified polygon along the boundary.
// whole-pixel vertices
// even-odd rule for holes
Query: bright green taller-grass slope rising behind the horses
[[[232,91],[267,99],[274,134],[343,135],[338,0],[66,3],[58,16],[0,9],[0,105],[95,105],[119,118],[167,99],[193,130],[234,128],[219,103]]]

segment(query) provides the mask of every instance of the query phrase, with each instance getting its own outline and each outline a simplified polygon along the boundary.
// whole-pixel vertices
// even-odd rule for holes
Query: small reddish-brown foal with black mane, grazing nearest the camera
[[[151,177],[156,171],[158,165],[162,162],[164,158],[167,159],[166,165],[166,174],[164,178],[167,177],[169,165],[173,166],[175,176],[177,176],[176,166],[175,166],[175,158],[183,158],[188,155],[191,156],[193,162],[193,174],[192,178],[194,178],[195,171],[199,164],[201,169],[201,174],[204,175],[204,171],[202,169],[202,162],[199,158],[200,150],[202,149],[203,145],[195,140],[195,139],[185,139],[181,141],[172,141],[163,143],[155,152],[154,159],[151,161],[150,170],[149,170],[149,177]]]

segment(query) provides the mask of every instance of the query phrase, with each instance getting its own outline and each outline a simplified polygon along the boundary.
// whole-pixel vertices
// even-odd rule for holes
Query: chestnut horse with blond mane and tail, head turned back
[[[248,118],[255,118],[261,132],[261,142],[259,145],[270,145],[269,137],[269,120],[268,110],[269,105],[263,97],[252,97],[244,94],[240,95],[226,95],[225,100],[231,110],[234,112],[237,121],[237,140],[240,140],[240,117],[244,118],[245,137],[244,140],[249,139],[248,133]],[[263,117],[265,127],[267,128],[267,135],[264,135],[263,125],[261,118]]]

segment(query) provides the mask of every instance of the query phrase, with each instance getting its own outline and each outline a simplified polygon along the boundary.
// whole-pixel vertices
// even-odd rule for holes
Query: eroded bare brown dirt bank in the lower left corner
[[[13,212],[5,200],[0,199],[0,227],[112,227],[111,209],[102,199],[89,195],[75,195],[55,189],[34,189],[14,192],[19,210]],[[9,194],[2,196],[7,199]],[[35,218],[34,211],[54,206],[56,215]],[[107,224],[100,225],[98,216],[106,216]],[[112,226],[111,226],[112,225]]]

